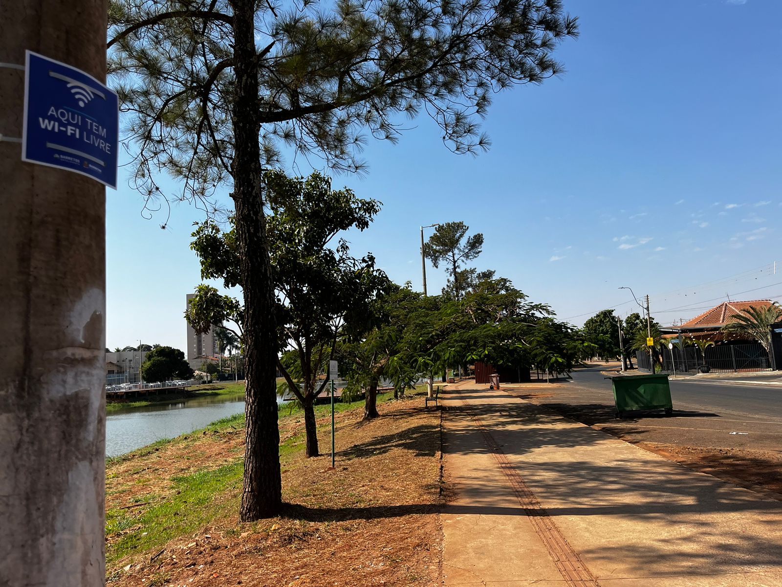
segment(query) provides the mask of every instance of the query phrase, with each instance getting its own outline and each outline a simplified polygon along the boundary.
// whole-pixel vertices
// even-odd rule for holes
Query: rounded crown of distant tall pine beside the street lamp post
[[[470,227],[461,221],[446,222],[438,225],[434,234],[424,244],[425,257],[432,261],[432,265],[435,268],[441,263],[445,265],[450,278],[443,288],[443,294],[455,300],[475,285],[476,270],[462,267],[466,262],[478,257],[483,247],[483,235],[477,232],[467,236],[469,229]]]

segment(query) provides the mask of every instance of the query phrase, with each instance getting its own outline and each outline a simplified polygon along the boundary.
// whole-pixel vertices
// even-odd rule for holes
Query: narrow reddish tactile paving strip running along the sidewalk
[[[465,407],[470,407],[469,402],[465,399],[460,398],[460,401]],[[554,565],[565,580],[565,584],[569,585],[569,587],[600,587],[600,583],[594,578],[594,575],[587,568],[587,565],[583,563],[578,553],[570,546],[557,524],[554,524],[554,520],[540,504],[540,501],[538,501],[535,494],[524,482],[522,476],[518,474],[518,470],[508,460],[508,456],[497,445],[497,441],[494,440],[490,430],[477,416],[471,417],[472,421],[475,422],[475,426],[480,430],[483,440],[489,447],[494,461],[508,480],[508,483],[511,484],[518,503],[522,506],[527,517],[529,517],[536,535],[543,542],[543,546],[546,547],[551,560],[554,561]]]

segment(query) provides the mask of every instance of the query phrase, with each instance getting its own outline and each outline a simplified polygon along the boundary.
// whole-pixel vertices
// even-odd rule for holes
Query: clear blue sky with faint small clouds
[[[418,118],[398,145],[369,143],[368,175],[335,176],[384,203],[353,250],[420,289],[418,227],[465,221],[485,236],[478,268],[579,326],[635,311],[619,286],[650,294],[665,324],[726,296],[782,299],[782,2],[565,6],[581,30],[558,50],[566,74],[496,96],[488,153],[454,155]],[[161,230],[165,214],[142,218],[127,182],[106,196],[107,345],[184,349],[201,213],[174,205]],[[446,276],[429,266],[427,278],[436,292]]]

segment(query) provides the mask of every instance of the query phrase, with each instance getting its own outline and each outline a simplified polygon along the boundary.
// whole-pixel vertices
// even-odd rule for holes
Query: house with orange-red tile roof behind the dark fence
[[[695,316],[694,319],[691,319],[688,322],[684,322],[680,326],[666,326],[662,327],[660,331],[663,333],[663,337],[665,338],[683,337],[689,340],[711,340],[717,345],[718,348],[726,345],[735,345],[738,349],[739,345],[743,345],[743,348],[748,351],[749,355],[756,355],[746,358],[746,366],[749,367],[750,365],[755,365],[755,363],[758,363],[755,368],[750,368],[747,370],[757,370],[759,368],[762,369],[762,366],[759,364],[759,362],[763,362],[763,356],[767,357],[768,355],[766,355],[765,350],[762,350],[760,344],[756,340],[741,337],[741,334],[724,332],[722,328],[723,326],[730,324],[730,322],[734,322],[735,316],[741,314],[741,311],[745,308],[767,308],[771,304],[772,301],[770,300],[726,301],[722,304],[719,304],[718,306],[715,306],[711,310],[704,312],[701,315]],[[775,326],[782,326],[782,324],[777,324]],[[772,352],[769,353],[769,355],[772,355],[769,357],[771,359],[770,366],[772,368],[780,369],[782,368],[782,328],[773,328],[773,331],[773,349]],[[753,352],[751,350],[751,346],[755,345],[760,349],[759,351]],[[708,355],[709,353],[707,352],[707,358]],[[727,355],[725,355],[723,361],[728,361]],[[735,367],[735,359],[733,355],[731,355],[730,361],[734,362]],[[707,360],[706,362],[711,361]],[[741,369],[739,366],[738,369],[734,368],[726,370],[744,369]]]

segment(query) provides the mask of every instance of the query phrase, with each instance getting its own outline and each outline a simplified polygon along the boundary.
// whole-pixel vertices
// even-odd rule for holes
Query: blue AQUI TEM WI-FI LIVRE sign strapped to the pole
[[[65,63],[27,52],[22,160],[75,171],[117,189],[117,94]]]

